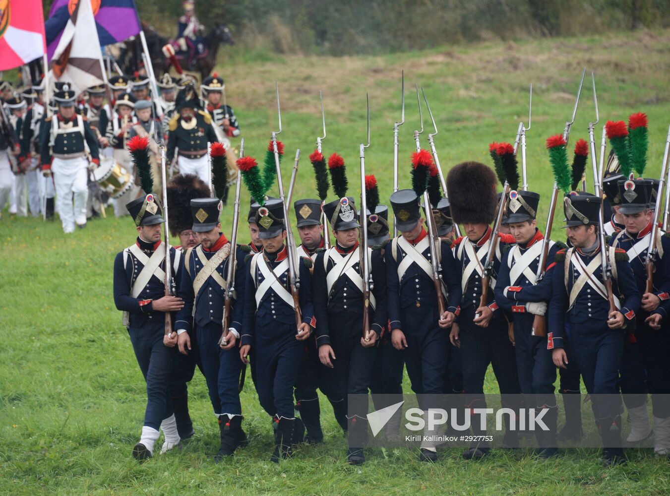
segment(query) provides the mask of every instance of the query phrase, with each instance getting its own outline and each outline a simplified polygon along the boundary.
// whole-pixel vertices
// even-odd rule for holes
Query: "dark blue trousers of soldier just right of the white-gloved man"
[[[593,397],[596,421],[619,415],[618,375],[624,350],[624,332],[606,322],[572,326],[570,344],[586,391]]]

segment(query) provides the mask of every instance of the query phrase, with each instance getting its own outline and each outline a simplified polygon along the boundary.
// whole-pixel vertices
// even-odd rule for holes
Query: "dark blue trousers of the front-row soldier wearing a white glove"
[[[555,406],[553,383],[556,381],[556,366],[551,350],[547,349],[547,338],[533,336],[533,314],[516,315],[514,319],[515,354],[521,393],[539,395],[537,406]]]

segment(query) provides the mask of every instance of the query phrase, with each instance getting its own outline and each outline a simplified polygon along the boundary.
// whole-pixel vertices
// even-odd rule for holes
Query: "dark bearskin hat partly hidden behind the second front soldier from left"
[[[177,174],[167,182],[167,214],[170,234],[178,235],[193,226],[191,200],[209,198],[210,188],[195,174]]]

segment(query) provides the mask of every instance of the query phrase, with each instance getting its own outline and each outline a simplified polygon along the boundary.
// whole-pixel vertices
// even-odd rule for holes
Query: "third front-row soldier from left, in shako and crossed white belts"
[[[290,456],[292,447],[303,440],[305,428],[295,418],[293,385],[302,361],[302,341],[316,327],[308,267],[311,261],[304,258],[297,261],[302,322],[296,326],[288,251],[283,244],[287,235],[284,212],[281,200],[267,200],[256,212],[263,251],[248,261],[240,349],[244,363],[250,349],[255,349],[256,391],[275,428],[273,462]]]

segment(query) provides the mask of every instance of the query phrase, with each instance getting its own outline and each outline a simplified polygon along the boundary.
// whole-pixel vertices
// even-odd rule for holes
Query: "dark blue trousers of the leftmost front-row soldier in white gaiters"
[[[129,327],[128,334],[139,369],[147,381],[144,425],[158,430],[161,422],[172,415],[172,402],[167,388],[179,352],[176,347],[163,345],[165,322],[162,318],[142,328]]]

